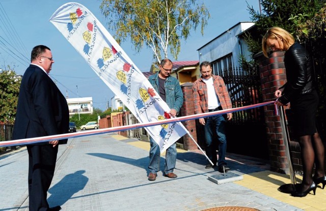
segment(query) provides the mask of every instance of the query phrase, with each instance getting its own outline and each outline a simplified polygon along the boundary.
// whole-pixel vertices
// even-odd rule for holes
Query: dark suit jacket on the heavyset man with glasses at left
[[[38,66],[26,69],[20,85],[13,139],[68,133],[69,109],[57,85]],[[59,143],[67,143],[67,139]],[[48,141],[36,145],[48,145]]]

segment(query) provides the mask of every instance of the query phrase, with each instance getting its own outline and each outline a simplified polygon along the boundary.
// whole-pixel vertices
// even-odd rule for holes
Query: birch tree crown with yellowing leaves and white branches
[[[108,29],[115,32],[117,42],[130,37],[135,50],[144,45],[160,61],[168,53],[177,59],[181,40],[200,26],[201,34],[210,15],[204,4],[196,0],[102,0],[100,9],[108,19]]]

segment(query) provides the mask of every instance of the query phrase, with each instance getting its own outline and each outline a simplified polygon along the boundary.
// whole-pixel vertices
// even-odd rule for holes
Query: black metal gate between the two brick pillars
[[[228,88],[233,108],[262,102],[259,69],[225,70],[220,75]],[[197,140],[204,147],[202,126],[196,120]],[[233,113],[227,122],[227,152],[268,159],[263,107]],[[257,150],[257,148],[259,150]]]

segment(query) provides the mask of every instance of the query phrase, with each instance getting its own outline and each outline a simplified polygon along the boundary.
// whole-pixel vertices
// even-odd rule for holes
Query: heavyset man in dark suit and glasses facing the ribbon
[[[67,101],[48,76],[54,62],[48,47],[33,48],[31,65],[21,80],[13,139],[68,133]],[[49,208],[46,199],[55,173],[59,143],[67,143],[67,139],[27,145],[30,211],[61,209],[60,206]]]

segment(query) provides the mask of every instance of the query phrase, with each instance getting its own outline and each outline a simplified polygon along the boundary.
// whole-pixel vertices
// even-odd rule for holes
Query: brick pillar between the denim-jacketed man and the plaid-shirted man
[[[182,93],[183,93],[183,105],[180,109],[181,116],[187,116],[195,114],[194,110],[194,97],[193,97],[193,83],[186,82],[181,85]],[[197,142],[197,133],[196,133],[196,122],[195,120],[188,120],[182,122],[184,127],[189,131],[189,133],[194,137]],[[186,134],[183,137],[183,147],[185,150],[194,150],[198,149],[196,143],[192,140],[192,138]]]

